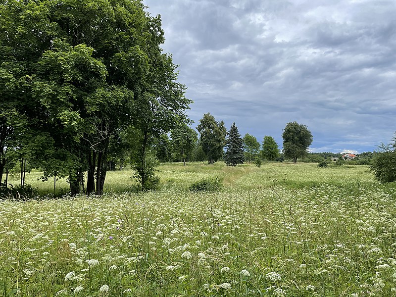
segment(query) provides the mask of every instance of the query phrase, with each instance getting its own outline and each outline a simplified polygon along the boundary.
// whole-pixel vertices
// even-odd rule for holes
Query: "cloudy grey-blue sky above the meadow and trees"
[[[194,101],[227,129],[282,148],[288,122],[312,152],[373,151],[396,131],[395,0],[145,0]]]

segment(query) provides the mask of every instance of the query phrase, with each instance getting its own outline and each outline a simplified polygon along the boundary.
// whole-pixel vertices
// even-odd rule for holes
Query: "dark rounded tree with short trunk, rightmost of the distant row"
[[[313,140],[312,134],[307,127],[297,122],[286,124],[282,138],[285,157],[292,158],[293,163],[297,163],[297,157],[306,154]]]

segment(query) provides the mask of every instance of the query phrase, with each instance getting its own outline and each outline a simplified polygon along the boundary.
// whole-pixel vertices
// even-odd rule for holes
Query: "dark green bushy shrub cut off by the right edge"
[[[396,135],[389,145],[381,145],[380,152],[374,153],[370,169],[382,183],[396,181]]]

